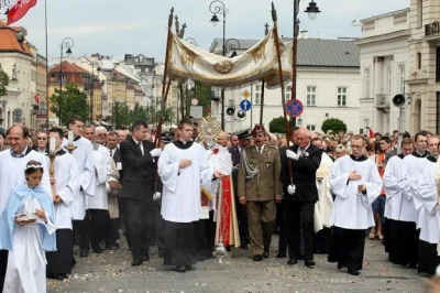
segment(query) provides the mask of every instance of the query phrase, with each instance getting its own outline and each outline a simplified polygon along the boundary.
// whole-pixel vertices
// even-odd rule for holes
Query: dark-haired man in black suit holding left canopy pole
[[[120,145],[124,169],[123,198],[127,211],[127,238],[133,256],[131,265],[150,260],[150,242],[154,229],[155,160],[162,150],[145,141],[148,124],[134,121],[132,137]]]

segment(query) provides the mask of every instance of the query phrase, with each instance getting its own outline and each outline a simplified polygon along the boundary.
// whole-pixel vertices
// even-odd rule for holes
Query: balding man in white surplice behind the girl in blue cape
[[[41,186],[51,194],[47,160],[43,154],[28,148],[29,135],[26,127],[18,124],[10,128],[11,149],[2,151],[0,155],[0,213],[3,211],[12,188],[25,182],[23,170],[31,160],[43,164]],[[8,250],[0,250],[0,291],[3,287],[7,264]]]

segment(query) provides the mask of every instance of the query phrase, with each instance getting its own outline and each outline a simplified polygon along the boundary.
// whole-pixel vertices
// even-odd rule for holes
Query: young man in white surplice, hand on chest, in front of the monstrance
[[[200,185],[220,177],[209,167],[205,149],[194,143],[194,124],[182,120],[179,140],[167,144],[158,160],[163,183],[164,264],[186,272],[197,262],[195,224],[201,216]]]

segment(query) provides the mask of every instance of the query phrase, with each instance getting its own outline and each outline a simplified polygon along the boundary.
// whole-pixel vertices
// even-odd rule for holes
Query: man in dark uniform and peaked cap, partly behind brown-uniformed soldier
[[[251,129],[243,130],[237,133],[239,138],[239,143],[235,146],[231,146],[229,152],[232,158],[232,182],[234,188],[235,198],[239,196],[239,165],[241,151],[251,144]],[[240,248],[248,249],[249,242],[249,229],[248,229],[248,211],[246,206],[240,205],[238,200],[235,202],[237,217],[239,218],[239,234],[240,234]]]

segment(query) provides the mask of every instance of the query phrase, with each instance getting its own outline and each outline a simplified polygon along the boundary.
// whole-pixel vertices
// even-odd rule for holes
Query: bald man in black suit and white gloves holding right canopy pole
[[[314,211],[315,203],[318,200],[316,171],[321,162],[322,150],[310,144],[310,133],[306,128],[298,129],[295,134],[298,144],[286,150],[279,174],[283,185],[287,186],[284,194],[289,247],[287,263],[293,265],[298,262],[302,230],[304,260],[306,267],[310,268],[316,265],[314,261]]]

